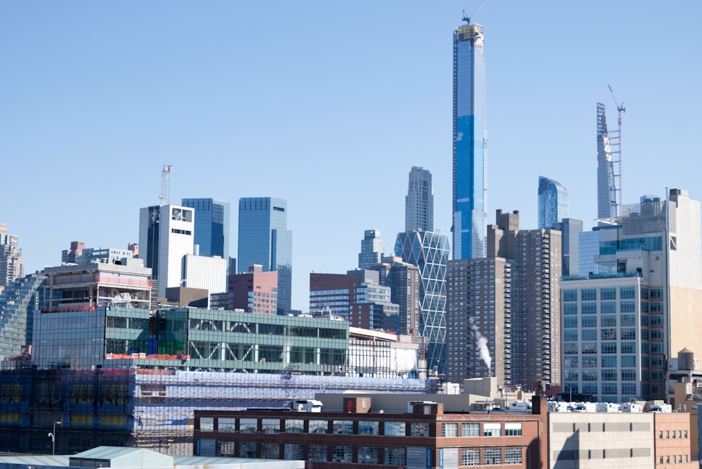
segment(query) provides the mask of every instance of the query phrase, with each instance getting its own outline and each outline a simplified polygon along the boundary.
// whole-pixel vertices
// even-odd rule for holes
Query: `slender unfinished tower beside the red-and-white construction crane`
[[[604,104],[597,103],[597,218],[616,218],[616,181]]]

